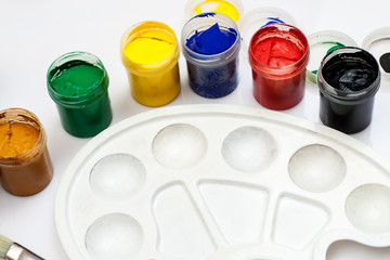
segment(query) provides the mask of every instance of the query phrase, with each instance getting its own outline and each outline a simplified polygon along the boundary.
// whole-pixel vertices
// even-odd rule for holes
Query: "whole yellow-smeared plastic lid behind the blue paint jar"
[[[243,16],[244,5],[240,0],[188,0],[184,11],[186,20],[203,13],[221,13],[237,23]]]

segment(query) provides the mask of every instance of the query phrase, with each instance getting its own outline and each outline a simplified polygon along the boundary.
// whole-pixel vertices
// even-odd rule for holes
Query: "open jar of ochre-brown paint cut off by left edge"
[[[0,112],[0,180],[9,193],[29,196],[47,187],[53,166],[39,119],[22,108]]]

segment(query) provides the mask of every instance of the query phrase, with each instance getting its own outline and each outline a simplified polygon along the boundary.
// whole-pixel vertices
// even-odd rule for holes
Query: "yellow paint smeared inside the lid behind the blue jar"
[[[214,12],[222,13],[231,17],[234,22],[239,20],[238,10],[234,6],[233,3],[224,0],[206,0],[199,3],[194,11],[197,14]]]

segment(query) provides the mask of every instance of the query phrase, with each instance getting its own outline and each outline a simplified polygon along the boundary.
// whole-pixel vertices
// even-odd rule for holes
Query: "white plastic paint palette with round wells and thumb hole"
[[[70,259],[324,260],[390,245],[389,167],[323,126],[224,105],[158,108],[92,139],[65,172]]]

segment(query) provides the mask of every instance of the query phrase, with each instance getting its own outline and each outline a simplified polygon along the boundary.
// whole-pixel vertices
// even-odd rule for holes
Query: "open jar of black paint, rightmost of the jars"
[[[370,123],[380,70],[367,51],[342,47],[328,53],[321,63],[317,84],[320,118],[325,126],[356,133]]]

